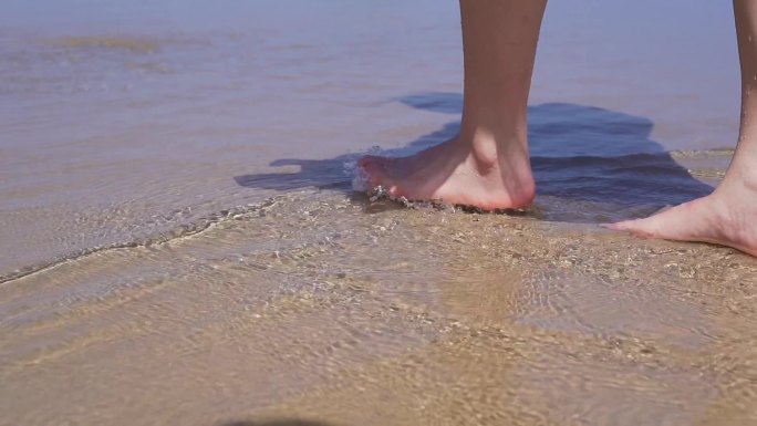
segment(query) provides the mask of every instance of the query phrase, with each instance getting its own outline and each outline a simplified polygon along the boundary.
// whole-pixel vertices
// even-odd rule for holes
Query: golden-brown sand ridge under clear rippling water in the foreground
[[[4,282],[0,423],[757,422],[751,258],[367,207],[293,193]]]

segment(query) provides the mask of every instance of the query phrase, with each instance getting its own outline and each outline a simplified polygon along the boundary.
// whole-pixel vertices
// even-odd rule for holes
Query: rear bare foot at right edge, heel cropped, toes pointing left
[[[609,228],[651,238],[712,242],[757,256],[757,186],[726,177],[707,197]]]

